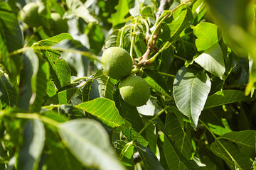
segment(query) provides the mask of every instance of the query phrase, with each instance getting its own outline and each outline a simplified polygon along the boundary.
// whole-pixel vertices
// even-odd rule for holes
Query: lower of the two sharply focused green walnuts
[[[132,106],[142,106],[150,97],[149,84],[133,74],[121,80],[119,91],[124,101]]]

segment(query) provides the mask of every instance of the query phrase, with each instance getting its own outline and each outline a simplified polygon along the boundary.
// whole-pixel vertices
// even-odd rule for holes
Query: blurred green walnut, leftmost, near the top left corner
[[[38,8],[39,6],[35,2],[26,4],[26,6],[21,9],[21,20],[30,27],[41,26]]]

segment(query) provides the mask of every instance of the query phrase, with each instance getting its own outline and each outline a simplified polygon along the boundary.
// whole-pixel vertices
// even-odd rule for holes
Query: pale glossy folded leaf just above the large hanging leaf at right
[[[195,62],[201,65],[203,69],[206,69],[211,74],[225,78],[225,63],[223,58],[223,52],[218,43],[210,46],[203,54],[196,57]]]

